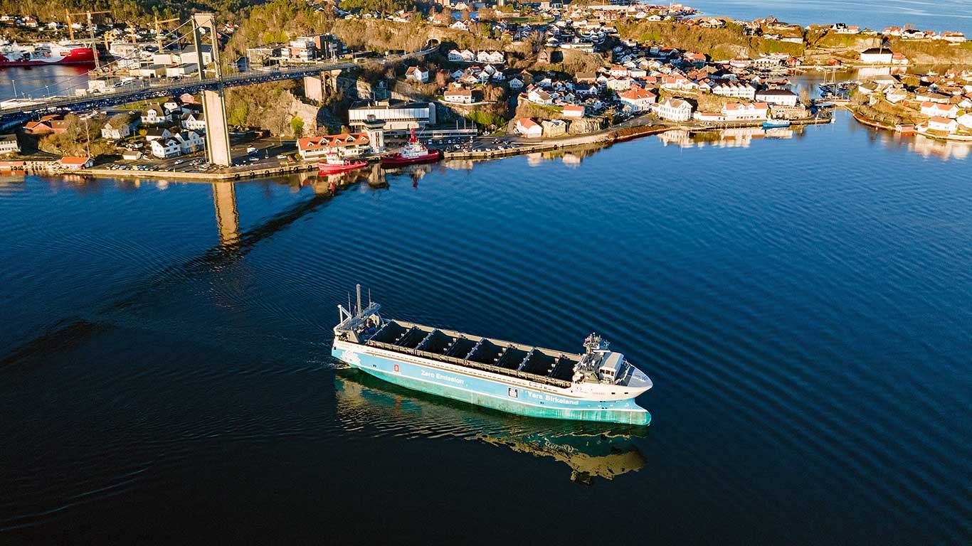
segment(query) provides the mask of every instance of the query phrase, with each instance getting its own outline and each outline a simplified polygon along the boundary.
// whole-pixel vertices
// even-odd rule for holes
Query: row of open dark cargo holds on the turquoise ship
[[[422,324],[387,321],[364,345],[568,388],[580,355]]]

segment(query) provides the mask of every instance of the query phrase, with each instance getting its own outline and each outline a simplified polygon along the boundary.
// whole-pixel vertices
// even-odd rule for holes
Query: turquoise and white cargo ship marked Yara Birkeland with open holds
[[[350,299],[350,298],[349,298]],[[370,299],[370,298],[369,298]],[[572,354],[383,318],[368,302],[338,305],[331,355],[401,387],[519,415],[645,426],[635,398],[651,380],[591,334]]]

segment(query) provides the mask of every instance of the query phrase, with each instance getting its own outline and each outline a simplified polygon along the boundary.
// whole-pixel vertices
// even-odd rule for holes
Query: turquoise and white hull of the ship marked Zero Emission
[[[394,385],[428,392],[495,410],[545,419],[648,425],[651,415],[635,403],[623,400],[591,400],[544,392],[503,378],[473,377],[460,370],[447,370],[425,363],[422,358],[407,360],[364,353],[361,346],[337,342],[331,351],[352,367]],[[478,374],[481,375],[481,374]]]

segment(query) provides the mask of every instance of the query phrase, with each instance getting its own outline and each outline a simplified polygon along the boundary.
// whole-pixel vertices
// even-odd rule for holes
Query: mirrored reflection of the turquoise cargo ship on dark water
[[[635,444],[647,427],[509,416],[448,398],[409,391],[354,369],[334,378],[337,416],[344,427],[375,427],[397,436],[452,436],[505,447],[571,469],[571,480],[593,485],[644,467]]]

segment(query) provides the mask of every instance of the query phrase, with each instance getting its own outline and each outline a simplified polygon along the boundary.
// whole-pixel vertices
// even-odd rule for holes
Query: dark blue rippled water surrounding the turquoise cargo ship
[[[0,542],[968,543],[968,150],[782,136],[335,197],[2,179]],[[596,329],[654,380],[651,427],[335,370],[355,282],[405,320]]]

